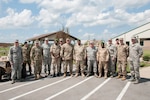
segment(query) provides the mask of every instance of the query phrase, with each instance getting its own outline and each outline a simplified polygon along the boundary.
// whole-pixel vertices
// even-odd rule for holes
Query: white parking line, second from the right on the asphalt
[[[103,85],[105,85],[111,78],[108,78],[107,80],[105,80],[103,83],[101,83],[98,87],[96,87],[94,90],[92,90],[90,93],[88,93],[86,96],[84,96],[83,98],[81,98],[81,100],[86,100],[87,98],[89,98],[92,94],[94,94],[98,89],[100,89]]]

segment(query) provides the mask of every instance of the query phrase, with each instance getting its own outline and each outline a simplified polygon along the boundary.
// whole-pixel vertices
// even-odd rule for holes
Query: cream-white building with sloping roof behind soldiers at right
[[[125,43],[130,45],[132,36],[137,37],[138,42],[143,46],[143,49],[150,50],[150,22],[118,35],[112,38],[112,41],[115,42],[117,38],[123,38]]]

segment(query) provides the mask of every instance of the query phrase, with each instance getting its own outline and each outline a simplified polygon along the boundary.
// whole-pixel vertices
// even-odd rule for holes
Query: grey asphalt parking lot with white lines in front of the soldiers
[[[150,100],[150,67],[140,69],[141,80],[133,84],[116,78],[52,77],[0,83],[1,100]],[[147,76],[144,74],[146,73]]]

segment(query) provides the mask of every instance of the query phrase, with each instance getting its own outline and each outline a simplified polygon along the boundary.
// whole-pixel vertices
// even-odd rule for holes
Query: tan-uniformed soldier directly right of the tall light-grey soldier
[[[59,76],[60,50],[61,50],[61,47],[58,44],[58,40],[55,40],[54,44],[50,48],[50,53],[52,57],[52,65],[53,65],[53,77],[55,77],[55,74]]]

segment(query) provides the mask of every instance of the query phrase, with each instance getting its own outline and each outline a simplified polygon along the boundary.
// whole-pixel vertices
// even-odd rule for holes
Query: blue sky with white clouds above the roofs
[[[0,42],[68,28],[81,40],[105,40],[150,22],[150,0],[0,0]]]

